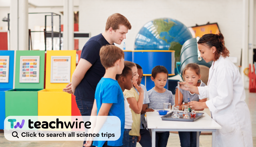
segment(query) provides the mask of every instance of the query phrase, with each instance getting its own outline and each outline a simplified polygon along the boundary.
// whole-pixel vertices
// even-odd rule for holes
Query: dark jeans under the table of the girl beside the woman
[[[196,147],[196,132],[179,132],[179,137],[181,147]]]

